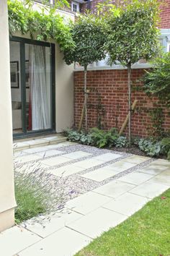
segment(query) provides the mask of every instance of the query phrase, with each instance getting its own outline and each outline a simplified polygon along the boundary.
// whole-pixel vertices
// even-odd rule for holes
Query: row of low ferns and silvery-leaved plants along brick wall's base
[[[115,128],[109,129],[109,131],[92,128],[87,135],[83,131],[67,130],[65,135],[70,141],[80,142],[84,145],[93,145],[97,148],[126,148],[128,146],[127,138],[119,136]],[[141,139],[136,137],[133,139],[133,145],[140,148],[148,156],[158,157],[159,155],[167,154],[170,160],[170,137],[164,138],[161,141],[153,138]]]

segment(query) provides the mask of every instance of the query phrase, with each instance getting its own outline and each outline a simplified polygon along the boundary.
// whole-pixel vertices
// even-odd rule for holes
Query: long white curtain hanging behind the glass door
[[[30,101],[32,130],[50,128],[45,46],[30,45]]]

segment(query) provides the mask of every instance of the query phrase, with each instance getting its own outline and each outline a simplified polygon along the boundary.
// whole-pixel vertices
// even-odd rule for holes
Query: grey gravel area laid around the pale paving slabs
[[[51,149],[49,149],[49,150],[51,150]],[[52,156],[45,157],[45,158],[40,158],[37,161],[29,161],[29,162],[26,162],[26,163],[21,163],[21,162],[19,163],[19,161],[17,161],[17,162],[15,162],[15,168],[20,168],[21,166],[23,166],[24,168],[29,170],[29,165],[39,164],[40,160],[48,159],[48,158],[54,158],[54,157],[59,156],[59,155],[64,156],[68,153],[73,153],[73,152],[76,152],[76,151],[84,151],[86,153],[91,153],[91,155],[88,155],[88,156],[85,156],[85,157],[82,157],[82,158],[73,159],[73,160],[70,160],[70,161],[68,159],[68,162],[66,162],[66,163],[56,164],[55,166],[49,166],[49,167],[47,166],[47,168],[42,168],[42,170],[43,171],[44,170],[49,171],[49,170],[53,170],[55,168],[59,168],[61,166],[68,166],[68,168],[69,168],[69,165],[71,163],[76,163],[76,162],[83,161],[83,160],[86,160],[86,159],[91,159],[94,156],[102,155],[104,153],[113,153],[113,154],[121,155],[119,158],[113,159],[112,161],[106,161],[106,162],[103,162],[103,163],[99,164],[98,166],[94,166],[94,167],[91,167],[91,168],[86,168],[83,171],[79,171],[76,174],[71,174],[70,176],[58,177],[58,176],[55,176],[53,174],[50,174],[51,182],[54,185],[58,184],[59,187],[63,188],[64,202],[67,202],[68,200],[71,200],[74,197],[78,197],[81,194],[84,194],[84,193],[89,192],[93,189],[96,189],[97,187],[101,187],[102,185],[107,184],[109,182],[112,182],[113,180],[119,179],[120,177],[125,176],[126,174],[130,174],[131,172],[139,170],[140,168],[143,168],[144,166],[147,166],[149,163],[151,163],[153,161],[156,161],[156,159],[151,158],[147,161],[144,161],[143,163],[135,165],[132,168],[129,168],[125,171],[122,171],[122,172],[116,174],[115,176],[109,177],[108,179],[104,179],[102,182],[96,182],[96,181],[93,181],[91,179],[86,179],[85,177],[82,177],[80,175],[89,173],[91,171],[94,171],[98,168],[102,168],[104,166],[109,166],[110,164],[116,163],[117,161],[121,161],[122,159],[125,159],[125,158],[127,158],[127,157],[129,157],[133,154],[124,153],[124,152],[117,152],[117,151],[108,150],[108,149],[99,149],[99,148],[94,148],[94,147],[91,147],[91,146],[88,146],[88,145],[79,145],[79,144],[78,145],[75,145],[75,144],[74,145],[68,145],[68,146],[64,146],[64,147],[61,147],[61,148],[56,148],[56,150],[61,150],[61,151],[63,151],[63,153],[52,155]]]

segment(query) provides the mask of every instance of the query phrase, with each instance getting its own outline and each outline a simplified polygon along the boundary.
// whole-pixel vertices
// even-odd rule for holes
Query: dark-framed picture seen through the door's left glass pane
[[[10,62],[11,88],[19,88],[19,63],[18,61]]]

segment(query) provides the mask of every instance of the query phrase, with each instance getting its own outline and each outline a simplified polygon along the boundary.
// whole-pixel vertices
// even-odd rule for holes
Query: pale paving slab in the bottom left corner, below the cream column
[[[0,255],[12,256],[22,249],[40,241],[40,236],[26,229],[14,226],[0,233]]]

